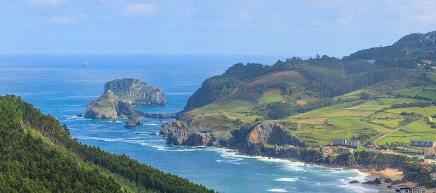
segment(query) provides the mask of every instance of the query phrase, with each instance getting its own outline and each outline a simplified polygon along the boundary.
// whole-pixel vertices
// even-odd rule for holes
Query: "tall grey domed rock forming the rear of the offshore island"
[[[115,79],[104,84],[104,92],[112,91],[130,105],[166,105],[164,93],[139,79]]]

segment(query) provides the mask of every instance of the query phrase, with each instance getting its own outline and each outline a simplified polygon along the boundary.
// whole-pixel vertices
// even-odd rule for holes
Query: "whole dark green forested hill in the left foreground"
[[[0,192],[214,192],[70,138],[66,125],[0,96]]]

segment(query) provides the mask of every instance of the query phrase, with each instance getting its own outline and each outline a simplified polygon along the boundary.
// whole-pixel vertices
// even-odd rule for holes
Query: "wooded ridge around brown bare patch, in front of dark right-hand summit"
[[[246,85],[260,75],[285,70],[299,72],[307,80],[306,83],[274,81]],[[258,63],[247,63],[247,65],[237,63],[228,68],[222,75],[206,79],[201,88],[189,98],[184,111],[214,102],[218,98],[228,95],[235,88],[242,88],[247,92],[256,91],[257,95],[262,95],[268,88],[280,88],[283,93],[287,94],[309,90],[308,93],[317,98],[331,98],[402,73],[402,69],[380,68],[380,65],[366,61],[344,62],[328,56],[308,60],[293,57],[286,59],[286,61],[277,61],[271,66]]]

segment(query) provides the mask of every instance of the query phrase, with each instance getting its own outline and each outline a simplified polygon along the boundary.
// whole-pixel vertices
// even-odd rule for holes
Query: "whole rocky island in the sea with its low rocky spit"
[[[86,104],[85,118],[129,118],[126,127],[140,125],[137,118],[176,118],[175,114],[147,114],[132,108],[132,105],[166,105],[164,93],[139,79],[115,79],[104,84],[103,95]],[[132,124],[136,123],[136,124]]]

